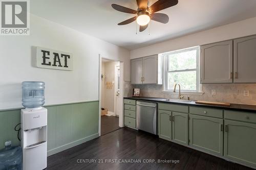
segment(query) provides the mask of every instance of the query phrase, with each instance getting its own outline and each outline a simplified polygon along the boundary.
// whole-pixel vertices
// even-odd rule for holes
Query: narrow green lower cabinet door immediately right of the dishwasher
[[[172,112],[158,110],[158,135],[160,138],[172,139]]]

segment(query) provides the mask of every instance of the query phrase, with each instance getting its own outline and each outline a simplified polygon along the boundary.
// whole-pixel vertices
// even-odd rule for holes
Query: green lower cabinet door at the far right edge
[[[225,120],[224,157],[256,167],[256,125]]]

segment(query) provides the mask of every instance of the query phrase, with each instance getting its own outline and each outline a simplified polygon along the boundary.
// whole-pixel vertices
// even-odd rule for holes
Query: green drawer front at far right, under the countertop
[[[240,111],[225,110],[225,119],[240,120],[244,122],[256,123],[256,114]]]

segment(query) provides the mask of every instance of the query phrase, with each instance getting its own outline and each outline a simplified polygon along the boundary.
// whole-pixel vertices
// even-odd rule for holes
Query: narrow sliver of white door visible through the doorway
[[[115,66],[115,114],[119,116],[121,113],[121,98],[120,98],[120,65]]]

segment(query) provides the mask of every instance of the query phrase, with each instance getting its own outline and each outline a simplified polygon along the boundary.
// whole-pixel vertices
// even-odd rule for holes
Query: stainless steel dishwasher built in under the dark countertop
[[[157,104],[137,101],[136,128],[157,134]]]

